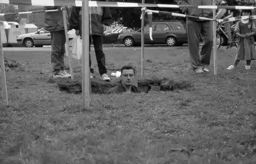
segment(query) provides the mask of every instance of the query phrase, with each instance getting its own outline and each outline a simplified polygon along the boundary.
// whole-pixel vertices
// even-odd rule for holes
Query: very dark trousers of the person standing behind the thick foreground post
[[[93,46],[94,46],[94,51],[97,59],[97,64],[98,64],[98,69],[99,69],[99,74],[103,75],[104,73],[108,73],[106,70],[106,63],[105,63],[105,54],[103,53],[102,49],[102,36],[100,35],[90,35],[90,51],[91,51],[91,43],[93,40]],[[92,59],[91,59],[91,54],[90,54],[90,69],[91,73],[94,72],[92,66]]]

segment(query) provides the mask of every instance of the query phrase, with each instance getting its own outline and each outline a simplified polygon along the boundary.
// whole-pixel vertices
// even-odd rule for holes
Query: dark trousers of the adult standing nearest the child
[[[200,36],[203,46],[199,55]],[[211,21],[194,21],[187,19],[188,49],[191,67],[196,70],[210,65],[210,56],[213,44],[213,31]]]

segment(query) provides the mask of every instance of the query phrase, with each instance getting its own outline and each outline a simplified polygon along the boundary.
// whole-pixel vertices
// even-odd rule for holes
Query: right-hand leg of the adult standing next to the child
[[[212,31],[212,22],[202,22],[202,29],[201,29],[202,39],[203,39],[203,46],[201,49],[201,63],[204,65],[204,71],[208,72],[209,70],[206,68],[210,65],[210,57],[211,57],[211,50],[214,36]]]

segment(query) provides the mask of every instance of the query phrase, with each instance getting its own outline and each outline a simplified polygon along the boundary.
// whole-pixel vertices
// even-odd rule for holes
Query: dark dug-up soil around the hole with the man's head
[[[111,88],[117,85],[118,79],[110,82],[105,82],[100,79],[92,79],[92,93],[107,93]],[[51,79],[51,83],[56,83],[61,91],[66,91],[73,94],[82,92],[81,81],[70,79]],[[174,81],[167,78],[151,78],[138,79],[138,87],[141,91],[147,93],[150,90],[155,91],[174,91],[191,88],[192,85],[188,81]]]

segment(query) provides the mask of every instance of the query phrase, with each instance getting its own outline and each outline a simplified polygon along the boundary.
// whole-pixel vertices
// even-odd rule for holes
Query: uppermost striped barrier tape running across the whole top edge
[[[82,6],[82,1],[77,0],[0,0],[1,4],[28,5],[28,6]],[[253,6],[187,6],[167,4],[141,4],[123,2],[97,2],[90,1],[90,7],[159,7],[159,8],[198,8],[198,9],[241,9],[252,10]]]

